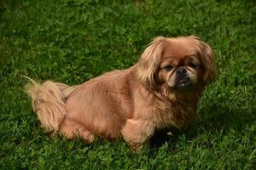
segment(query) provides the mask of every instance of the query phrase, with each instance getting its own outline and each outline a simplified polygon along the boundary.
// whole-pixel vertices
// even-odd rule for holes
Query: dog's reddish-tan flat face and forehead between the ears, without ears
[[[200,82],[201,53],[194,38],[167,39],[160,59],[159,78],[170,88],[189,88]]]

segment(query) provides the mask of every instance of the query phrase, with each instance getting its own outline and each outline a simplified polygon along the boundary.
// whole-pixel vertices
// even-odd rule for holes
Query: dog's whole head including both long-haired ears
[[[155,38],[138,65],[140,81],[151,89],[161,85],[178,90],[206,85],[216,72],[212,49],[192,36]]]

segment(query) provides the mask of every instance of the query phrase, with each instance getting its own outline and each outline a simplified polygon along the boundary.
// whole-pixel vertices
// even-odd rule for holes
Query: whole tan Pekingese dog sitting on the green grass
[[[156,37],[137,64],[81,85],[26,86],[41,126],[68,139],[122,136],[137,150],[157,129],[188,125],[215,77],[212,49],[198,37]]]

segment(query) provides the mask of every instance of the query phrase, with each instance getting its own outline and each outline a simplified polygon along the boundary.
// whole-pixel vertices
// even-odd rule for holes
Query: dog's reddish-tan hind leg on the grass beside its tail
[[[85,140],[87,143],[94,141],[95,136],[90,131],[88,127],[85,127],[83,124],[66,117],[66,119],[61,123],[60,133],[64,134],[67,139],[73,139],[80,137]]]

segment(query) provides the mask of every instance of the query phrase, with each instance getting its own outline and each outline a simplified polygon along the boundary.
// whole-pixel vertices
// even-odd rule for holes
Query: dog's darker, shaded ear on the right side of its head
[[[200,48],[201,62],[204,69],[203,82],[208,84],[212,82],[212,80],[214,79],[214,77],[216,77],[216,74],[217,74],[214,54],[212,52],[212,48],[206,42],[202,42],[199,39],[198,41],[200,42],[199,48]]]

